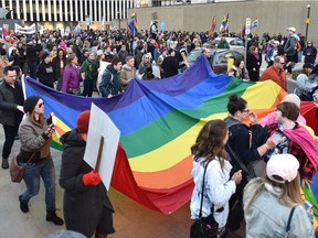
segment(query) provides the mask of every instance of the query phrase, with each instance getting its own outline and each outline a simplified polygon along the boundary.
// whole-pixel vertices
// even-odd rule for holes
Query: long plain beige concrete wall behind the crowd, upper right
[[[247,1],[232,3],[208,3],[187,4],[158,8],[136,9],[138,15],[138,29],[149,29],[152,13],[157,12],[157,21],[160,28],[161,19],[165,20],[167,29],[184,31],[208,31],[213,17],[216,18],[216,29],[219,31],[223,15],[227,14],[230,32],[240,32],[246,18],[252,21],[259,19],[259,26],[252,33],[263,32],[286,33],[286,28],[294,26],[297,32],[305,34],[307,4],[310,3],[310,24],[308,39],[317,37],[318,32],[318,1],[285,0],[285,1]],[[131,14],[132,9],[129,10]],[[318,39],[318,37],[317,37]]]

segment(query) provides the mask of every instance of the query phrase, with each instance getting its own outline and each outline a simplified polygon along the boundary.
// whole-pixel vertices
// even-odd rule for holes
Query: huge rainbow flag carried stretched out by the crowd
[[[40,95],[44,99],[46,115],[55,112],[60,134],[75,127],[76,117],[89,109],[91,102],[102,108],[121,131],[112,186],[165,214],[190,199],[190,147],[206,121],[226,117],[231,94],[245,98],[261,118],[286,95],[272,82],[245,83],[215,75],[205,57],[178,76],[132,79],[123,95],[110,99],[66,95],[31,78],[24,83],[28,96]],[[57,138],[53,147],[61,149]]]

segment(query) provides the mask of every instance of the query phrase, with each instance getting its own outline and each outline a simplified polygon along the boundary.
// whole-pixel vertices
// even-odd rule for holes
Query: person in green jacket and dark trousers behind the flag
[[[97,71],[97,62],[95,61],[95,52],[91,51],[88,54],[88,57],[84,61],[84,63],[81,66],[81,76],[84,80],[84,90],[83,95],[84,97],[88,96],[92,97],[93,90],[94,90],[94,83],[97,79],[98,71]]]

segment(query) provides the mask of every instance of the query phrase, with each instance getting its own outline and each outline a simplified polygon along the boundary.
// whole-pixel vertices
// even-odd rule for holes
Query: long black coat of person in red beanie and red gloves
[[[66,228],[92,237],[97,225],[102,224],[108,234],[115,232],[112,218],[114,208],[103,182],[97,186],[85,186],[83,183],[83,175],[92,171],[83,160],[86,142],[78,138],[76,129],[63,134],[61,142],[60,185],[65,190],[63,209]],[[105,214],[109,215],[106,219]]]

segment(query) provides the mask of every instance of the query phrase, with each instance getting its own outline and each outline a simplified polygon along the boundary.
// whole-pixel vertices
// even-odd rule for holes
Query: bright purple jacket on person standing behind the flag
[[[62,84],[62,91],[71,93],[72,89],[76,89],[80,87],[81,75],[80,68],[73,67],[65,67],[64,75],[63,75],[63,84]]]

